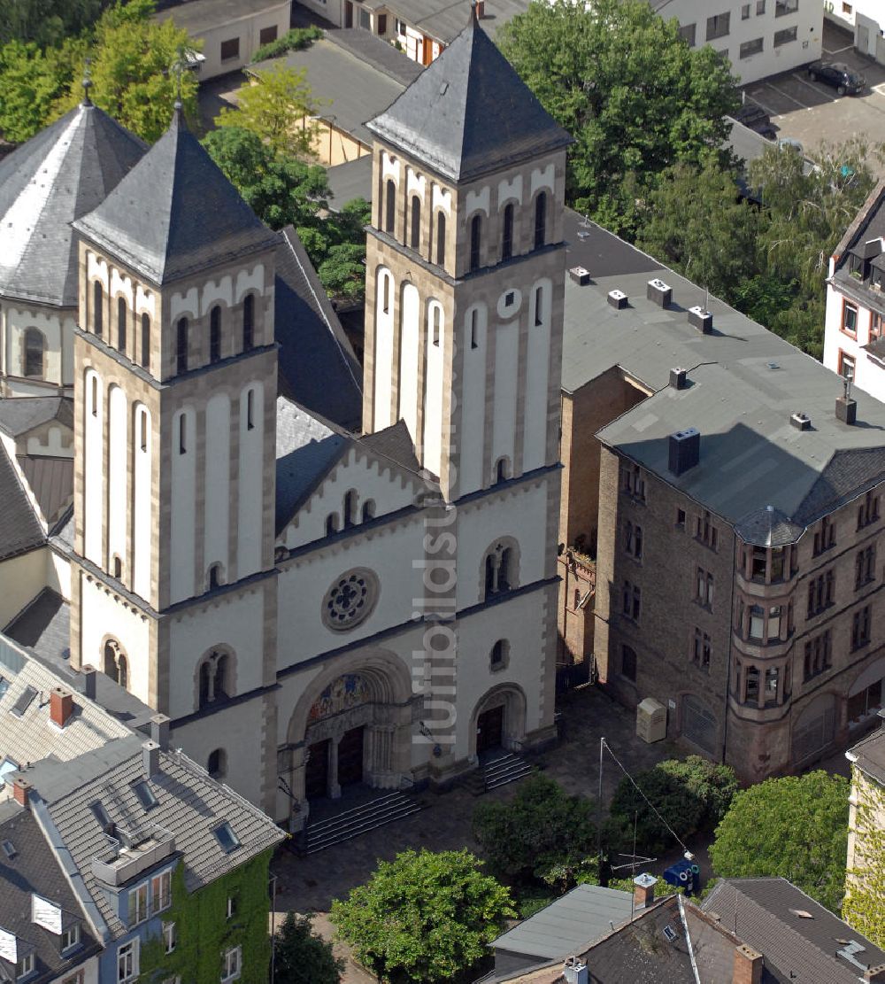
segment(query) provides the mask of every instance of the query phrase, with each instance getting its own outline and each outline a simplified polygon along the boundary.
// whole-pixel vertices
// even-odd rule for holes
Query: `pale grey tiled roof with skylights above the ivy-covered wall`
[[[112,937],[126,928],[108,904],[92,872],[91,859],[107,840],[90,804],[100,801],[111,822],[124,830],[153,824],[171,832],[185,866],[185,885],[194,892],[273,847],[285,834],[257,807],[216,782],[187,756],[159,753],[159,769],[149,778],[156,806],[145,811],[132,785],[145,777],[141,735],[109,742],[66,768],[43,762],[29,770],[29,780],[46,802],[49,816]],[[227,822],[240,846],[229,854],[214,830]]]

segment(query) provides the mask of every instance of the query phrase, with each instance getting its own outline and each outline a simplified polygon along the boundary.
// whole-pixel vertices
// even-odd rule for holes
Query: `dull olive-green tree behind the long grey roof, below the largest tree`
[[[648,196],[636,245],[729,303],[756,274],[759,214],[738,201],[734,176],[710,161],[679,163]]]

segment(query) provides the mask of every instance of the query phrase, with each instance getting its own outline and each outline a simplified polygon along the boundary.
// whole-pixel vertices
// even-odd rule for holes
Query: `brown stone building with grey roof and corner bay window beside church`
[[[560,542],[596,558],[599,680],[746,780],[809,765],[881,706],[885,406],[598,226],[566,239]]]

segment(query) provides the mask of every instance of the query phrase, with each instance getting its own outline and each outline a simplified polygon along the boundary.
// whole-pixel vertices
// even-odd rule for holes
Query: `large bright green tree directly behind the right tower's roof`
[[[619,228],[627,174],[641,186],[678,161],[723,158],[735,79],[709,46],[689,48],[675,20],[644,0],[532,3],[499,33],[501,50],[575,139],[567,196]]]

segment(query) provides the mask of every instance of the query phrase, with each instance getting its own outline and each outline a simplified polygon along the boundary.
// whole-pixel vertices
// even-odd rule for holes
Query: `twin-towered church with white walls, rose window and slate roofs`
[[[362,384],[180,109],[146,150],[87,99],[0,165],[0,430],[73,389],[37,415],[70,484],[15,555],[46,554],[29,645],[67,619],[71,666],[293,830],[555,733],[569,137],[475,16],[369,126]]]

